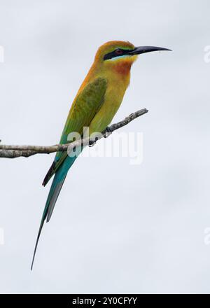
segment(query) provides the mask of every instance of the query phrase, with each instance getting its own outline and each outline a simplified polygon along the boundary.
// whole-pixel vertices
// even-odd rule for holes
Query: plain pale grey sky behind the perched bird
[[[57,143],[102,43],[173,49],[139,57],[114,119],[149,110],[122,129],[144,134],[143,163],[78,158],[32,273],[54,155],[0,160],[1,293],[209,293],[209,13],[207,0],[0,0],[4,144]]]

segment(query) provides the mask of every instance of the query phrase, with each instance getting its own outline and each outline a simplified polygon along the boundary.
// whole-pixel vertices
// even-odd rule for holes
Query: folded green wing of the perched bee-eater
[[[71,109],[69,116],[66,120],[62,137],[59,144],[68,143],[68,135],[71,132],[83,133],[83,127],[89,126],[97,111],[104,103],[104,95],[106,93],[107,81],[105,78],[97,78],[88,83],[82,92],[78,94]],[[66,152],[58,152],[55,156],[55,160],[50,167],[48,174],[46,174],[43,181],[45,186],[57,169],[59,169],[62,162],[64,162],[67,156]]]

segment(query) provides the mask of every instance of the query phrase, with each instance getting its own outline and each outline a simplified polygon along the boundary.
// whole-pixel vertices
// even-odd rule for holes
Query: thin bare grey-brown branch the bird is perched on
[[[115,130],[127,125],[132,120],[139,118],[139,116],[143,116],[147,112],[147,109],[141,109],[130,114],[130,116],[127,116],[124,120],[107,127],[107,129],[97,137],[97,140],[102,139],[103,137],[108,137]],[[55,146],[7,146],[0,144],[0,158],[29,158],[29,156],[35,154],[50,154],[54,152],[71,151],[77,146],[87,146],[88,144],[90,144],[89,138],[73,141],[69,144],[56,144]]]

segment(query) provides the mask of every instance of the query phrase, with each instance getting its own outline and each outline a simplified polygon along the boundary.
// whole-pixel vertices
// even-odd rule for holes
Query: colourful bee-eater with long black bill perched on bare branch
[[[73,100],[59,144],[67,144],[68,135],[71,132],[82,135],[83,127],[89,127],[89,134],[104,132],[123,102],[125,91],[130,84],[132,64],[139,55],[159,50],[170,49],[155,46],[135,47],[128,41],[109,41],[101,45]],[[43,186],[45,186],[54,176],[36,238],[31,270],[43,223],[50,221],[66,174],[77,156],[68,155],[66,152],[57,152],[43,180]]]

